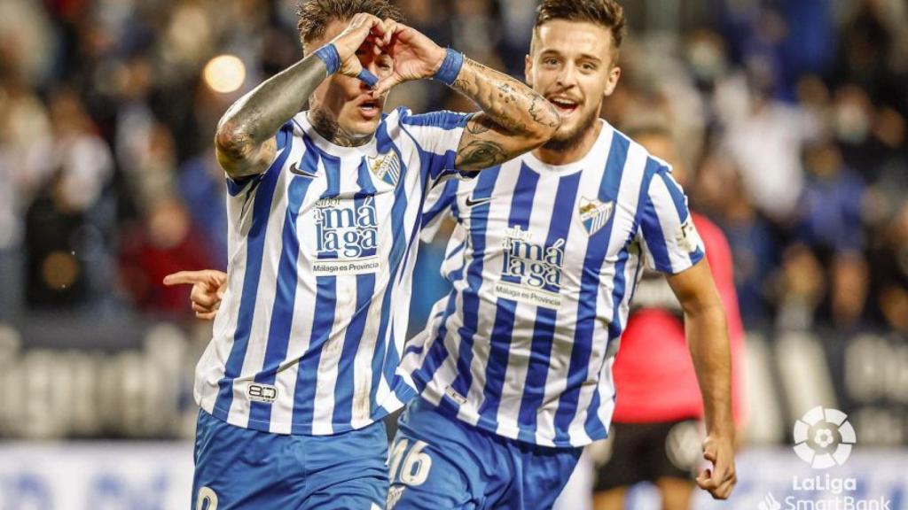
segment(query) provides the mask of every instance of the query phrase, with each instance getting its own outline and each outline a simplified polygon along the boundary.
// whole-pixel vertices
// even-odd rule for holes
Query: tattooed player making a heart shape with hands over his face
[[[402,405],[424,197],[558,127],[538,93],[440,48],[386,0],[312,0],[299,15],[307,56],[234,103],[215,136],[230,255],[196,368],[200,510],[384,505],[381,418]],[[483,113],[382,114],[391,87],[429,77]]]

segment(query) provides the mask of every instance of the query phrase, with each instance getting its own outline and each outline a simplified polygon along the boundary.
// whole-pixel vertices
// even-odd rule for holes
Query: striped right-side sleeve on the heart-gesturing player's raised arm
[[[410,114],[400,112],[400,125],[413,137],[424,157],[422,172],[429,177],[429,187],[450,177],[469,178],[475,172],[459,172],[454,162],[460,137],[473,113],[440,112]]]

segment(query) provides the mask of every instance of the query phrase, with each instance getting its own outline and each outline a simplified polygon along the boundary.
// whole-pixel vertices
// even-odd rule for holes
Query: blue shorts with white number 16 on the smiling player
[[[496,436],[417,398],[391,447],[388,510],[550,508],[582,451]]]

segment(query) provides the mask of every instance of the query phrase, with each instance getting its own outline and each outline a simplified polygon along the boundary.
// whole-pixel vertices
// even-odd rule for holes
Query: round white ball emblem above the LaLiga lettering
[[[854,427],[838,409],[814,407],[795,422],[795,454],[814,469],[842,466],[856,442]]]

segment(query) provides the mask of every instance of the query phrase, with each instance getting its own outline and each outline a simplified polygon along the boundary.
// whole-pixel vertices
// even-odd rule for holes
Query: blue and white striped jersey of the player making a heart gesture
[[[410,310],[420,213],[454,175],[469,115],[385,115],[339,147],[299,113],[271,167],[228,180],[228,289],[195,398],[232,425],[330,435],[401,407],[393,381]]]

